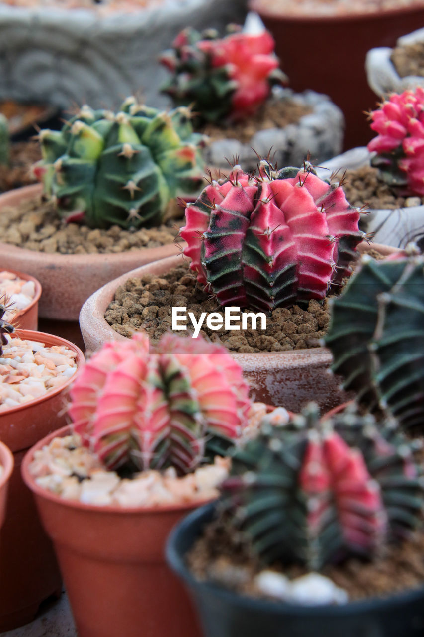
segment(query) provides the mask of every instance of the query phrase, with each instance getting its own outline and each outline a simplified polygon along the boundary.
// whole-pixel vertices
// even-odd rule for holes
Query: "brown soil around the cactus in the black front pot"
[[[264,568],[252,554],[248,543],[230,533],[219,520],[211,522],[202,538],[187,556],[188,566],[199,580],[211,580],[251,597],[264,597],[255,585],[255,576]],[[306,574],[299,566],[271,569],[290,579]],[[349,559],[337,566],[326,566],[322,575],[347,590],[351,601],[386,597],[424,584],[424,533],[417,532],[400,545],[386,547],[374,561]]]

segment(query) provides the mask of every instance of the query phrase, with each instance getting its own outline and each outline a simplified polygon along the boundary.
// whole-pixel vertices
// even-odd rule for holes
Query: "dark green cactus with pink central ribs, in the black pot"
[[[267,564],[318,570],[374,557],[421,522],[421,441],[395,422],[348,410],[320,420],[316,405],[286,426],[265,423],[232,459],[220,509]]]

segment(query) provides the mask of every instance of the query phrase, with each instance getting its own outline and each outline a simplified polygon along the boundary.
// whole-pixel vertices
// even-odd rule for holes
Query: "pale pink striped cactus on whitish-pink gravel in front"
[[[198,341],[168,335],[149,349],[135,334],[85,364],[69,415],[107,468],[188,473],[239,436],[250,410],[241,368],[225,348]]]

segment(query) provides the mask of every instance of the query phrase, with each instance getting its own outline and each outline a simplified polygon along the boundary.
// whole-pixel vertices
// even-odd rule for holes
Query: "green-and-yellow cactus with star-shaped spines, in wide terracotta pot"
[[[62,131],[40,132],[34,172],[67,221],[160,225],[171,199],[201,189],[203,137],[190,117],[187,108],[167,113],[133,97],[117,114],[83,106]]]

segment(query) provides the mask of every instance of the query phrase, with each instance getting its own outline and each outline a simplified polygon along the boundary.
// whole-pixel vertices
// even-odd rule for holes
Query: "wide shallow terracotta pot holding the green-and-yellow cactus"
[[[0,213],[3,206],[17,206],[41,191],[42,186],[36,184],[4,192],[0,195]],[[99,286],[132,268],[176,252],[178,247],[171,243],[119,254],[46,254],[0,242],[0,268],[24,270],[38,278],[43,287],[40,317],[77,321],[81,305]]]

